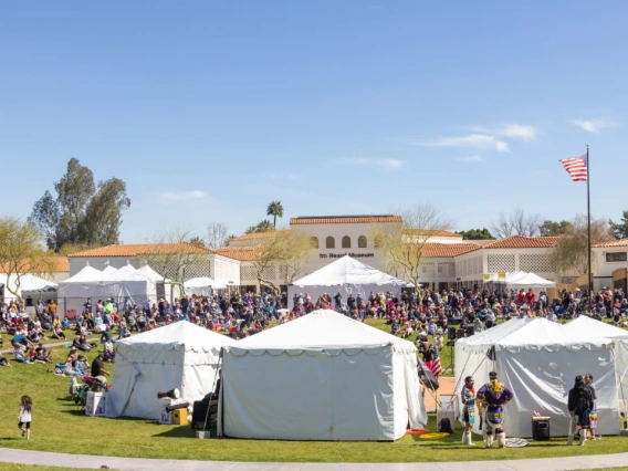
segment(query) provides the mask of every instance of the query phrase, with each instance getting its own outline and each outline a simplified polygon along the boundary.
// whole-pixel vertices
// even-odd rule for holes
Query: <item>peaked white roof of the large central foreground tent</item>
[[[268,350],[280,354],[284,350],[305,349],[341,350],[353,353],[369,348],[379,350],[394,345],[396,349],[416,352],[411,342],[354,321],[335,311],[314,311],[295,321],[282,324],[237,343],[237,348]]]

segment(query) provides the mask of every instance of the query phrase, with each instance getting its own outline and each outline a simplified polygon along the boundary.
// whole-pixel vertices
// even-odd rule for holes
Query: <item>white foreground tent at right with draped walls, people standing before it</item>
[[[580,338],[545,318],[513,320],[456,342],[456,394],[473,375],[475,389],[494,370],[514,393],[505,407],[509,437],[531,437],[534,411],[552,417],[555,435],[566,435],[567,395],[574,378],[590,371],[597,391],[598,431],[619,433],[618,381],[614,345],[604,338]],[[479,432],[479,421],[474,425]]]

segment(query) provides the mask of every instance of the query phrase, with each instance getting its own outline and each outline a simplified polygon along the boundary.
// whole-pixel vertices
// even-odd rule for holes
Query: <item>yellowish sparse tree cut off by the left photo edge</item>
[[[6,289],[20,301],[22,275],[50,272],[52,260],[43,242],[44,237],[33,222],[0,218],[0,264],[7,274]]]

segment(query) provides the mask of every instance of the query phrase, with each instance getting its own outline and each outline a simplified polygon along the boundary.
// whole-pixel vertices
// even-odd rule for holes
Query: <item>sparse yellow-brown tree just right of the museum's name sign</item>
[[[387,268],[405,276],[419,292],[419,281],[425,276],[423,247],[452,224],[431,205],[401,211],[401,222],[375,227],[375,245],[381,250]]]

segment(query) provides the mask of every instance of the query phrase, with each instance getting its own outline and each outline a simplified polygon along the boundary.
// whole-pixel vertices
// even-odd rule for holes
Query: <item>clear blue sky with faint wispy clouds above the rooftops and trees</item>
[[[124,179],[122,240],[431,202],[456,229],[586,211],[628,171],[625,1],[0,3],[0,213],[70,157]]]

